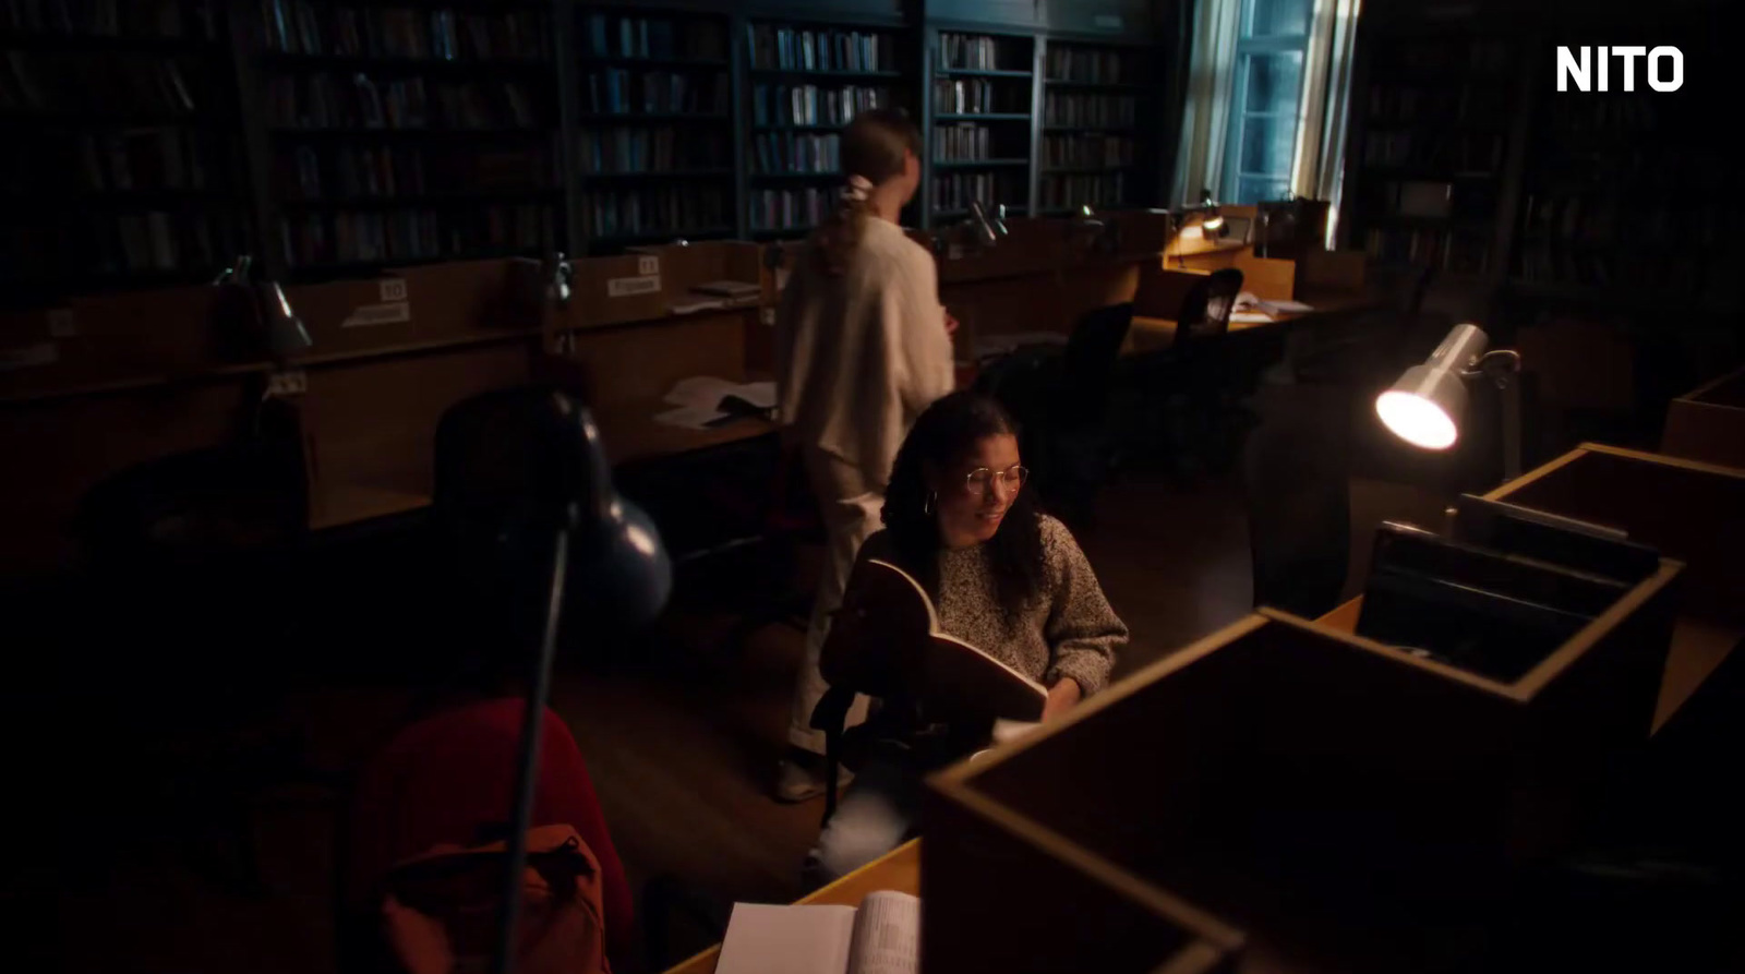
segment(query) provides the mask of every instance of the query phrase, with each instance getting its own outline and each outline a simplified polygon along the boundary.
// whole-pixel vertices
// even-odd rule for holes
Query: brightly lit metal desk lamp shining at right
[[[1478,325],[1455,325],[1422,365],[1413,365],[1375,398],[1375,415],[1413,447],[1447,450],[1461,438],[1466,384],[1490,379],[1502,396],[1502,477],[1522,473],[1520,372],[1511,349],[1485,351],[1490,337]]]

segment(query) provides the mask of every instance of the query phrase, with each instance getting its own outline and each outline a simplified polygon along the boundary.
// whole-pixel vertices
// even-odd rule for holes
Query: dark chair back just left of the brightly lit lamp
[[[1255,606],[1319,618],[1351,560],[1351,393],[1265,386],[1242,445]]]

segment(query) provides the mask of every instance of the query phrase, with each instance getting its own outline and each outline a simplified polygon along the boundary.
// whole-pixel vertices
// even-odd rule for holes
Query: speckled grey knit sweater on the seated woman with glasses
[[[1073,534],[1047,515],[1042,552],[1045,588],[1019,614],[1000,606],[986,545],[939,552],[939,627],[1044,686],[1071,677],[1091,696],[1108,682],[1115,649],[1127,644],[1127,627],[1103,597]],[[867,538],[860,559],[895,564],[886,532]]]

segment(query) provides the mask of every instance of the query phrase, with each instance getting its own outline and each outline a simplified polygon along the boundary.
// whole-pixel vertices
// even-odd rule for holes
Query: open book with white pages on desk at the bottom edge
[[[921,901],[867,894],[853,906],[733,904],[715,974],[916,974]]]

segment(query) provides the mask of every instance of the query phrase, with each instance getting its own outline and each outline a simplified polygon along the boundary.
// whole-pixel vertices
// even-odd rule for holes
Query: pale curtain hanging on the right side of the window
[[[1304,54],[1304,103],[1297,129],[1291,192],[1328,201],[1326,246],[1333,246],[1345,175],[1351,68],[1363,0],[1317,0]]]

